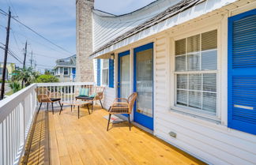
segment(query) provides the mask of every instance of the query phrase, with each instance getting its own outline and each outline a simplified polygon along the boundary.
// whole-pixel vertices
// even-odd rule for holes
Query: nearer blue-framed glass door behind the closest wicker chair
[[[134,49],[134,122],[153,130],[153,43]]]

